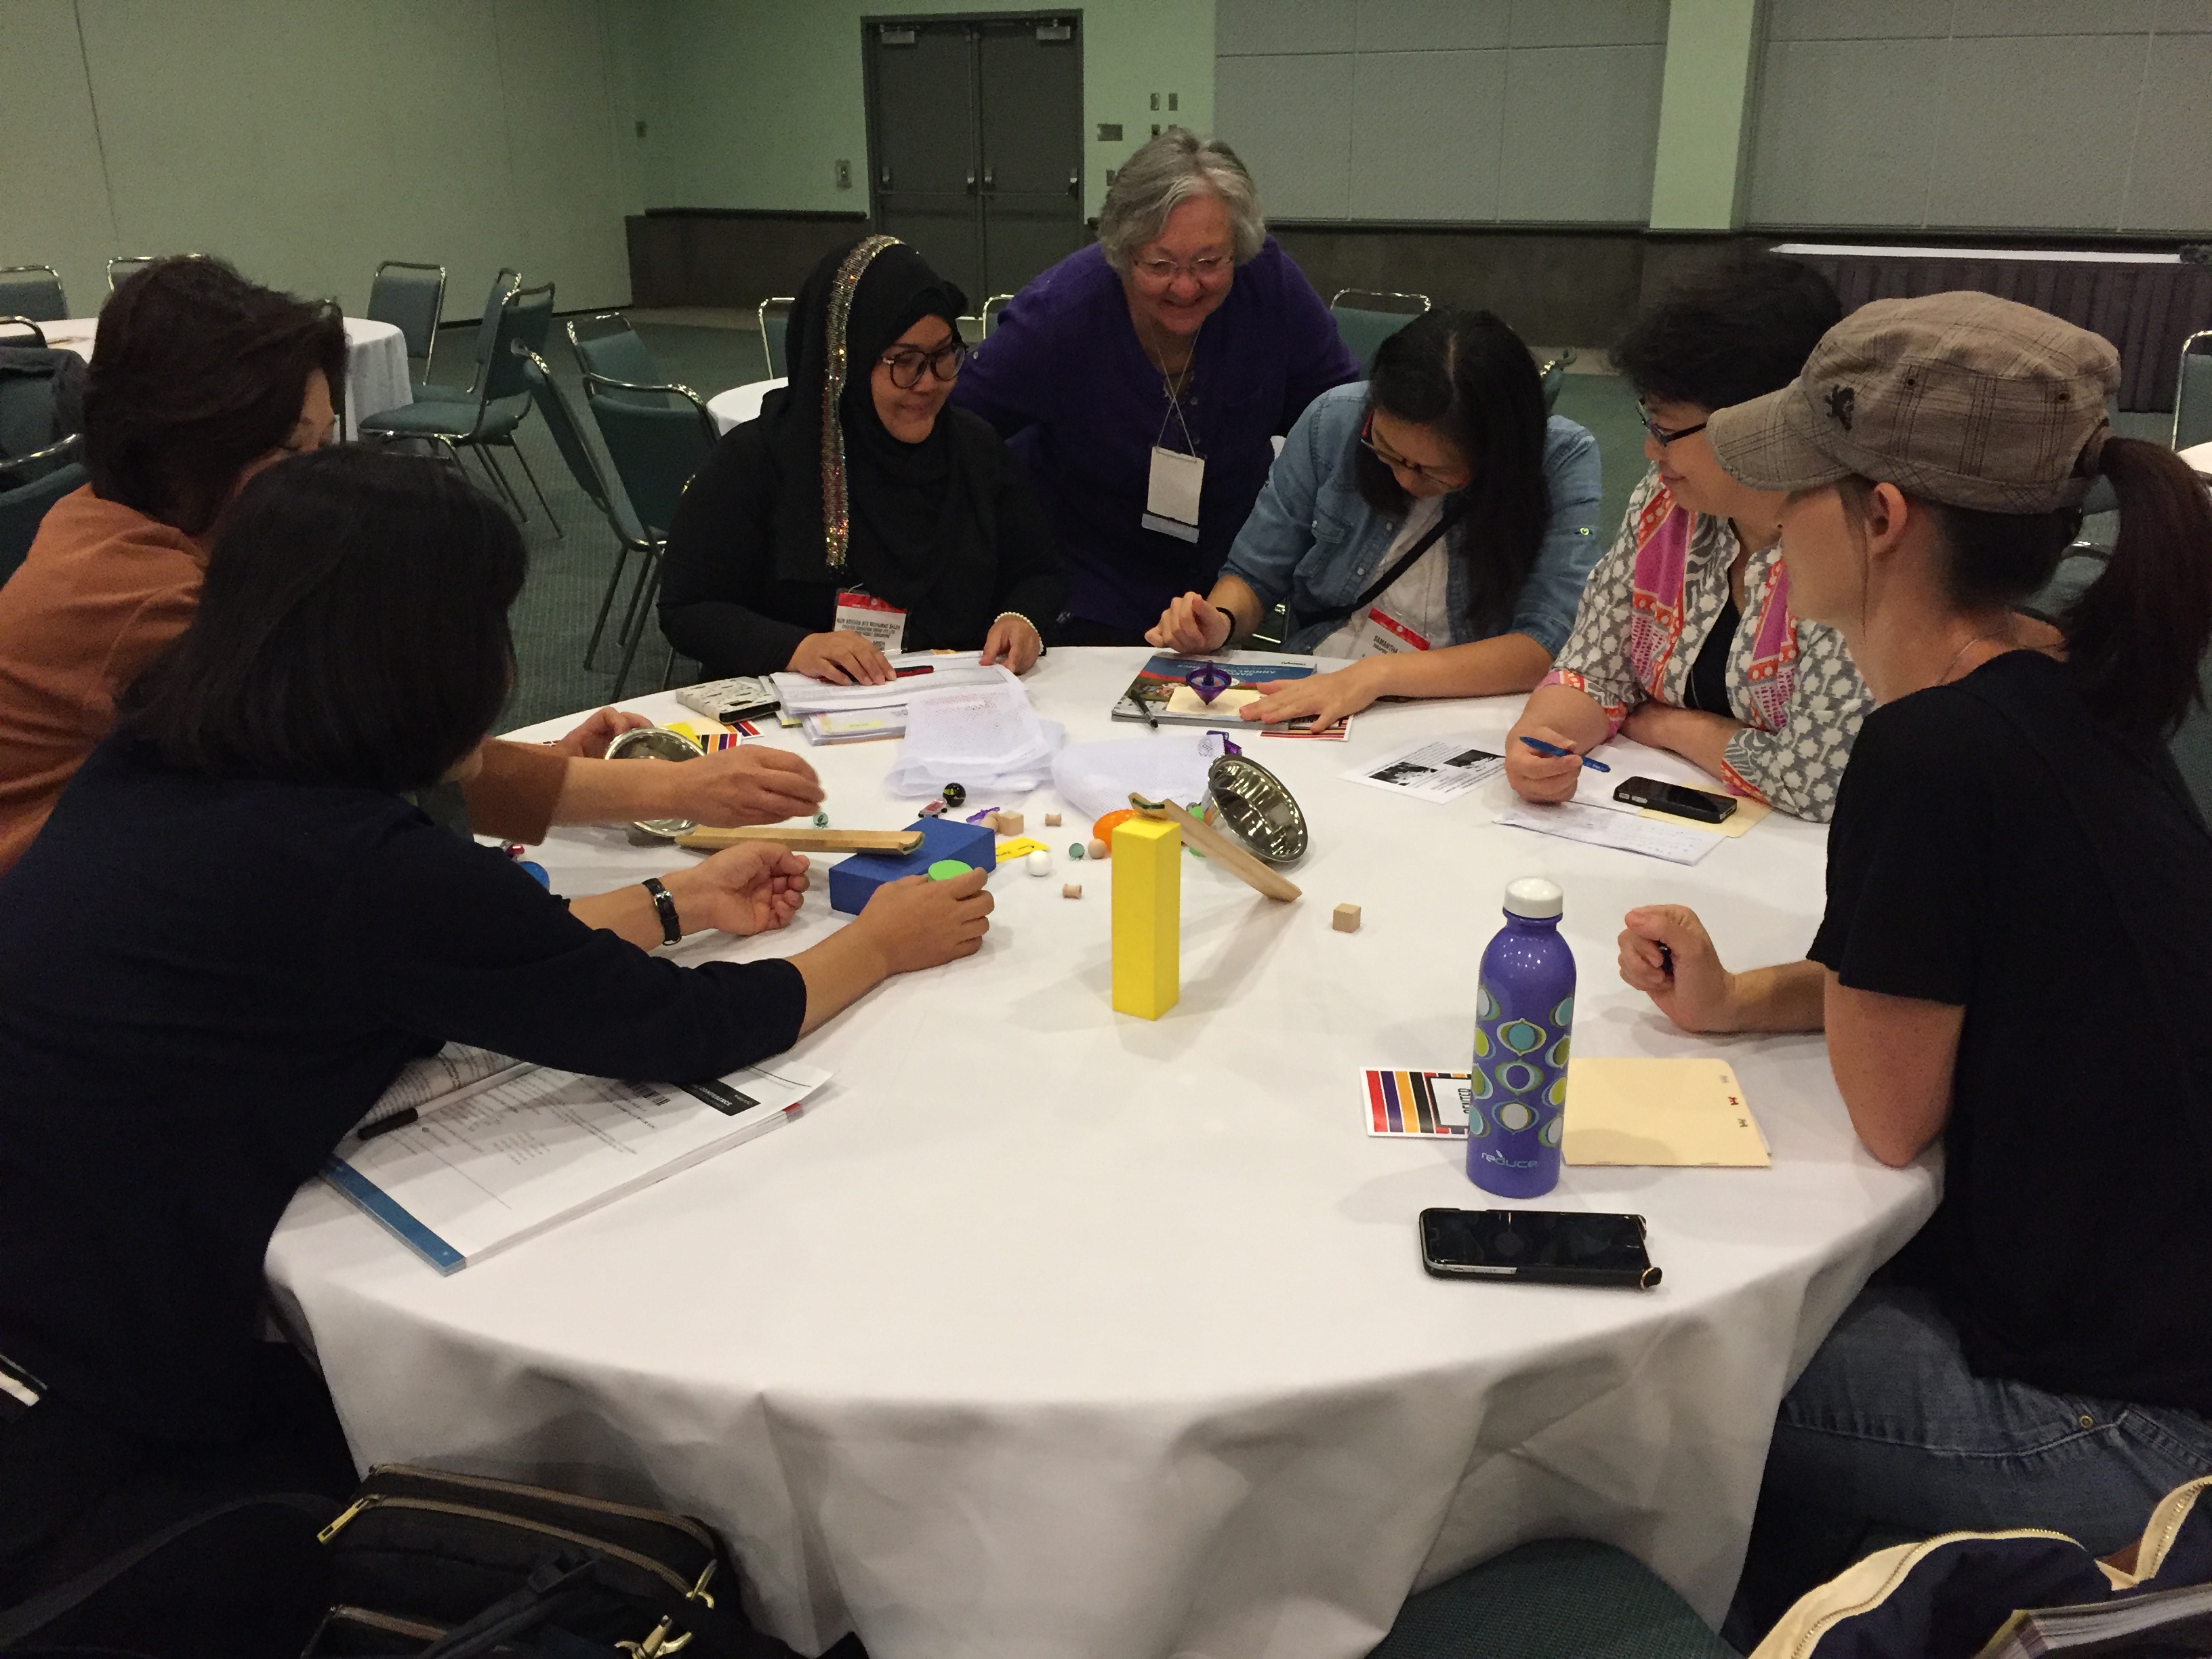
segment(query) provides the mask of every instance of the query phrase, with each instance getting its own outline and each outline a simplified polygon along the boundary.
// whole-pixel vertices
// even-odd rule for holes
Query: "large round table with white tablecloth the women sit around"
[[[1026,684],[1068,741],[1148,741],[1106,714],[1141,661],[1055,650]],[[1431,805],[1338,776],[1420,737],[1495,750],[1517,706],[1252,737],[1312,823],[1305,896],[1186,856],[1183,995],[1157,1022],[1108,1006],[1113,867],[1066,858],[1077,814],[1044,830],[1051,787],[978,799],[1026,810],[1051,880],[995,872],[978,956],[801,1042],[834,1077],[783,1133],[451,1279],[310,1183],[268,1267],[356,1458],[703,1515],[801,1652],[856,1628],[876,1659],[1352,1659],[1416,1586],[1557,1535],[1719,1619],[1774,1407],[1938,1172],[1856,1144],[1818,1037],[1692,1040],[1615,973],[1635,902],[1694,905],[1736,964],[1803,953],[1818,825],[1774,814],[1681,867],[1498,825],[1502,779]],[[914,818],[894,754],[810,750],[834,823]],[[540,856],[577,894],[688,854],[593,827]],[[1568,1168],[1535,1201],[1648,1217],[1652,1292],[1429,1279],[1416,1214],[1500,1206],[1460,1141],[1365,1133],[1363,1066],[1467,1064],[1524,874],[1566,889],[1577,1053],[1719,1051],[1774,1150]],[[1358,933],[1329,927],[1347,900]],[[812,891],[785,936],[675,958],[843,920]]]

